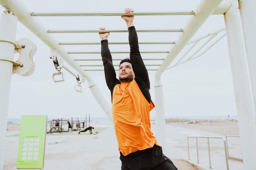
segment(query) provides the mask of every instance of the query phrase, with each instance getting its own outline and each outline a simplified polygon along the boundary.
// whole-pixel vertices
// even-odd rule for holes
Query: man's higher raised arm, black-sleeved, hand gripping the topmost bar
[[[150,88],[150,81],[148,77],[148,70],[141,58],[139,52],[139,43],[138,43],[138,36],[133,25],[134,16],[132,16],[133,9],[125,9],[126,14],[130,16],[121,16],[123,20],[125,20],[128,32],[129,32],[129,44],[130,44],[130,60],[132,64],[132,70],[135,74],[136,82]]]

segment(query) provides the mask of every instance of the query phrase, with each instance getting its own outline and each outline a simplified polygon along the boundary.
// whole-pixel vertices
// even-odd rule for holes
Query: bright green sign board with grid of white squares
[[[46,125],[46,115],[21,117],[17,168],[43,168]]]

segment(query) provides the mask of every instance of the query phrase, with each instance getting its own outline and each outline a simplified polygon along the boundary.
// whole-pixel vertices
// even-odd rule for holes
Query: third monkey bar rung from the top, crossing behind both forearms
[[[109,42],[108,45],[129,44],[128,42]],[[175,44],[172,42],[139,42],[139,44]],[[59,45],[101,45],[100,42],[60,42]]]

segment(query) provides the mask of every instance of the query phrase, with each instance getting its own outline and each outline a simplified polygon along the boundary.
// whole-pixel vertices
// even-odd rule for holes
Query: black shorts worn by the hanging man
[[[171,159],[163,154],[162,147],[138,150],[124,156],[120,152],[121,170],[177,170]]]

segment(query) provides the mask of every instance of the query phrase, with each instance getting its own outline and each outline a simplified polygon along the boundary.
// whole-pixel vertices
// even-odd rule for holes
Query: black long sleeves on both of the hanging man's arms
[[[148,77],[148,71],[139,52],[138,36],[135,27],[130,26],[128,28],[128,32],[130,44],[130,60],[132,64],[132,70],[135,74],[135,81],[146,100],[150,103],[150,81]],[[101,40],[101,57],[104,65],[106,83],[110,89],[112,100],[114,87],[121,82],[117,79],[115,68],[112,63],[112,56],[108,48],[108,40]]]

